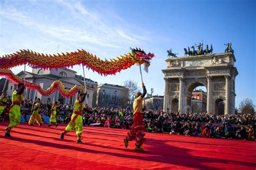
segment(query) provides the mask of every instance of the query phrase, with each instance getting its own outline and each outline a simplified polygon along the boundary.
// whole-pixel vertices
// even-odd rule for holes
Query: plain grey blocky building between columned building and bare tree
[[[126,108],[129,90],[123,86],[113,84],[98,85],[97,107]]]

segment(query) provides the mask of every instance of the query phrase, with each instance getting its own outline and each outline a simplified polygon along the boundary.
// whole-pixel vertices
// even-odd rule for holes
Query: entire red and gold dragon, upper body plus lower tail
[[[39,54],[33,51],[21,50],[14,54],[8,54],[0,58],[0,76],[4,76],[17,84],[22,82],[23,79],[14,75],[10,68],[28,64],[31,67],[42,69],[58,69],[73,67],[75,65],[82,65],[86,68],[92,69],[93,72],[97,72],[100,75],[115,75],[123,69],[130,68],[134,64],[144,64],[144,69],[147,72],[147,68],[150,66],[151,59],[154,57],[153,53],[146,54],[142,49],[131,48],[132,52],[121,55],[120,58],[110,59],[103,61],[97,58],[96,55],[90,54],[85,50],[78,50],[77,52],[62,53],[62,54]],[[64,97],[70,97],[76,94],[77,90],[83,89],[83,87],[75,86],[70,90],[65,90],[63,84],[60,81],[55,81],[51,86],[44,90],[39,84],[26,82],[26,88],[36,89],[44,96],[50,95],[56,89],[60,91]]]

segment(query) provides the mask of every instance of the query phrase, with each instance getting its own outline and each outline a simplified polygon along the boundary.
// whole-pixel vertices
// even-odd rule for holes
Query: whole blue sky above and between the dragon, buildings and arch
[[[232,42],[238,107],[255,95],[255,1],[1,1],[0,55],[19,49],[55,54],[85,49],[99,58],[116,58],[140,47],[155,54],[144,83],[154,95],[164,95],[161,69],[167,49],[183,55],[183,48],[213,44],[213,53]],[[205,47],[204,47],[205,48]],[[12,69],[18,73],[24,69]],[[73,68],[83,74],[79,66]],[[31,68],[27,68],[31,71]],[[116,76],[102,77],[91,70],[85,76],[99,83],[122,85],[133,79],[141,84],[139,67]]]

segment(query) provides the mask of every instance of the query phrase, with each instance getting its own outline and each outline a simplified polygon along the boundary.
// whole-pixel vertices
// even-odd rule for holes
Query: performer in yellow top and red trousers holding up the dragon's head
[[[124,145],[127,148],[129,141],[136,139],[136,147],[134,150],[136,151],[144,151],[144,148],[141,147],[145,142],[145,126],[143,123],[143,111],[146,109],[142,108],[143,97],[146,95],[147,90],[142,83],[143,94],[138,92],[136,94],[136,98],[133,102],[133,125],[130,126],[130,132],[127,133],[127,137],[124,138]]]

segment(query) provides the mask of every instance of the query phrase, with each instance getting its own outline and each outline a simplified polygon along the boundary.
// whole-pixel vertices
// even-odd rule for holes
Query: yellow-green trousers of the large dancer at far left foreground
[[[8,128],[14,128],[19,123],[21,123],[21,107],[19,105],[14,105],[9,111],[10,124]]]

